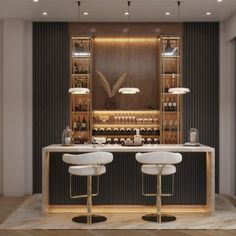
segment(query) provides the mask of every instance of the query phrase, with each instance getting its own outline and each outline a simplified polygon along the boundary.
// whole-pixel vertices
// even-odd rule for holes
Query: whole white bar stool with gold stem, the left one
[[[85,154],[64,154],[62,159],[65,163],[76,165],[69,167],[70,173],[70,197],[87,198],[87,215],[76,216],[72,220],[76,223],[93,224],[106,221],[105,216],[92,214],[92,197],[99,194],[99,176],[106,172],[105,164],[112,162],[113,154],[110,152],[91,152]],[[72,195],[72,176],[87,176],[87,194]],[[92,193],[92,176],[98,176],[97,193]]]

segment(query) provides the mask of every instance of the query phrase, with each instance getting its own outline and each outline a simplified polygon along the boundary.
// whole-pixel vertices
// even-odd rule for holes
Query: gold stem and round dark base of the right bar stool
[[[171,215],[161,214],[161,175],[157,175],[157,188],[156,188],[156,214],[148,214],[142,217],[143,220],[151,222],[170,222],[175,221],[176,217]]]

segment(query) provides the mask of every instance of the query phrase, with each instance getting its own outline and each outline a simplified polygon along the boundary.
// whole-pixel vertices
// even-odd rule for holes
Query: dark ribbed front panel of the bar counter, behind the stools
[[[49,174],[49,204],[85,204],[86,199],[71,199],[69,194],[69,165],[63,163],[63,153],[51,153]],[[163,204],[206,204],[206,158],[205,153],[182,153],[183,161],[176,165],[175,191],[164,197]],[[98,205],[142,205],[155,204],[155,197],[142,196],[141,164],[135,153],[114,153],[112,163],[106,165],[106,173],[100,177],[99,196],[93,198]],[[85,177],[73,177],[72,191],[86,193]],[[145,175],[145,192],[156,192],[156,178]],[[96,192],[94,180],[93,191]],[[163,176],[162,190],[171,191],[171,176]]]

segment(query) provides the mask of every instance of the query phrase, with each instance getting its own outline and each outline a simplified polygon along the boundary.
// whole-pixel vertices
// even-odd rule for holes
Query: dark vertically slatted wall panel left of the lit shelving
[[[33,192],[41,192],[42,147],[61,143],[69,122],[68,23],[33,24]]]

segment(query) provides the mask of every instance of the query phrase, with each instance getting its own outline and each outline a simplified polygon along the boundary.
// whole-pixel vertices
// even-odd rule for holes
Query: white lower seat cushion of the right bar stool
[[[147,175],[172,175],[176,172],[174,165],[142,165],[141,171]]]

